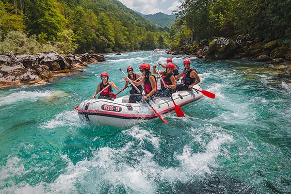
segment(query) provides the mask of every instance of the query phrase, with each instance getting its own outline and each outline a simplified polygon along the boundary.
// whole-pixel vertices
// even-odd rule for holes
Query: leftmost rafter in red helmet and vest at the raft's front
[[[100,77],[101,77],[102,82],[100,82],[98,84],[97,90],[96,90],[95,94],[92,96],[92,99],[96,97],[96,95],[99,93],[99,91],[103,90],[106,86],[109,85],[105,90],[103,90],[100,93],[99,98],[114,100],[112,88],[114,88],[115,90],[118,90],[118,87],[115,85],[115,83],[113,81],[108,81],[109,74],[107,72],[102,72]]]

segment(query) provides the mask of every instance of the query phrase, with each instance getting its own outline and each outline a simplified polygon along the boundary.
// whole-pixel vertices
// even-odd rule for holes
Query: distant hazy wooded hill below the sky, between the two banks
[[[143,16],[161,28],[164,28],[164,27],[170,28],[176,19],[175,15],[166,15],[161,12],[156,13],[156,14],[143,15]]]

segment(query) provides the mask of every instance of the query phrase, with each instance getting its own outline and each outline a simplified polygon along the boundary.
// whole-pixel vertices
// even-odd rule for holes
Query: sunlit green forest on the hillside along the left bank
[[[169,39],[118,0],[2,0],[0,29],[0,54],[154,49]]]

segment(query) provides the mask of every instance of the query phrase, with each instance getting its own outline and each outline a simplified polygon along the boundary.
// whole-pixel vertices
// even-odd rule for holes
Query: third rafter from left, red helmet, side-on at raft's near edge
[[[142,73],[143,77],[140,81],[132,81],[135,85],[144,85],[145,94],[142,96],[135,97],[134,99],[130,99],[129,102],[136,102],[143,100],[151,100],[153,99],[153,95],[157,91],[157,79],[154,75],[150,72],[150,65],[147,63],[142,63],[140,65],[140,72]]]

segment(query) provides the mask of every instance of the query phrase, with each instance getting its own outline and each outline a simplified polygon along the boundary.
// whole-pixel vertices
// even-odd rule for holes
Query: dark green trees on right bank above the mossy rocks
[[[199,42],[250,34],[262,42],[291,46],[291,0],[182,0],[171,29],[172,48],[185,39]]]

